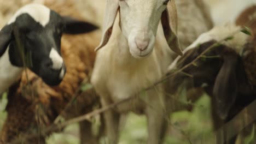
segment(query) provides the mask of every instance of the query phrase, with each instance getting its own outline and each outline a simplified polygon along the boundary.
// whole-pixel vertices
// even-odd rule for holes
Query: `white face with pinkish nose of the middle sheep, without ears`
[[[152,52],[155,35],[165,1],[119,1],[120,27],[128,40],[133,57],[145,57]]]

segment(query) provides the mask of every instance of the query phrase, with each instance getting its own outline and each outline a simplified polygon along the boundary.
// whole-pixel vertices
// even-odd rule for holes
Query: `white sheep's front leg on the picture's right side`
[[[167,121],[164,115],[164,99],[162,95],[156,91],[149,92],[150,101],[146,107],[146,115],[148,120],[148,144],[162,143],[165,136]],[[153,99],[151,99],[153,98]]]

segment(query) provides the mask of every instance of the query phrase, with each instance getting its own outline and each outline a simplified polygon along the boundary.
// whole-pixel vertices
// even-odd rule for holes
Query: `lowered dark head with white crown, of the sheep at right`
[[[175,79],[184,81],[184,79],[191,78],[193,87],[201,87],[206,83],[207,85],[203,87],[212,97],[213,107],[221,119],[230,116],[232,107],[239,103],[238,99],[251,97],[253,93],[246,75],[244,66],[246,62],[240,56],[240,51],[245,49],[247,44],[248,35],[239,32],[239,29],[240,27],[227,25],[215,27],[211,31],[203,33],[183,51],[184,56],[175,59],[169,68],[171,70],[184,67],[214,45],[194,64],[183,70],[184,73],[192,75],[192,77],[178,74]],[[234,32],[237,33],[234,34]],[[230,37],[230,35],[233,36],[231,40],[217,42]]]

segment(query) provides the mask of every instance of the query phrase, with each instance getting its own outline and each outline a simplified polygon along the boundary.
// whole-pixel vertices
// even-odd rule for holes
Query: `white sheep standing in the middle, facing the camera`
[[[91,77],[103,106],[151,86],[165,74],[174,52],[182,55],[174,0],[108,0],[105,14]],[[110,143],[118,142],[120,114],[131,110],[147,115],[148,143],[161,143],[168,117],[164,87],[160,84],[146,94],[104,113]]]

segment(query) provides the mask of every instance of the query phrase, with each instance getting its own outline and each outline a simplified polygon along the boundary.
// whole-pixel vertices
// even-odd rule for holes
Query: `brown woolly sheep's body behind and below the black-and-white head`
[[[44,2],[46,7],[60,15],[75,17],[86,22],[81,11],[75,7],[75,3],[76,1],[73,0]],[[90,9],[86,14],[93,15]],[[66,65],[66,74],[58,86],[46,85],[31,70],[22,71],[20,81],[9,88],[8,104],[5,109],[8,115],[0,130],[0,143],[15,143],[15,140],[24,143],[46,143],[46,138],[51,133],[49,135],[37,133],[29,139],[22,135],[35,129],[39,132],[53,124],[55,118],[63,112],[76,94],[79,94],[79,97],[75,103],[69,106],[65,114],[61,114],[65,119],[80,116],[93,109],[92,107],[97,103],[97,96],[92,89],[86,92],[80,91],[80,85],[84,79],[89,79],[95,61],[94,49],[100,43],[100,38],[100,29],[90,33],[62,35],[61,56]],[[30,86],[27,86],[28,83]],[[30,93],[31,91],[33,92]],[[91,122],[83,121],[79,125],[80,143],[96,143],[94,142],[96,137],[91,133]]]

